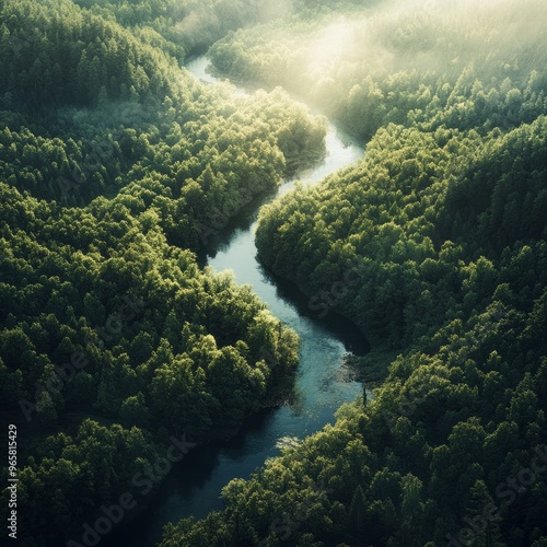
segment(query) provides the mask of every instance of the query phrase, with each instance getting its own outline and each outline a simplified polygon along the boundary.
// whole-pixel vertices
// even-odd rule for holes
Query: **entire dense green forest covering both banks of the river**
[[[298,96],[365,156],[261,208],[258,256],[359,327],[374,388],[161,546],[547,546],[546,20],[542,0],[0,0],[20,544],[81,539],[173,443],[290,389],[298,335],[197,254],[322,161]],[[266,91],[196,81],[206,50]]]

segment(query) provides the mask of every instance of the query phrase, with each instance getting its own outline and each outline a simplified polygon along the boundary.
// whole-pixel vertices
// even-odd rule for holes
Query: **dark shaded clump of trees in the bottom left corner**
[[[105,427],[91,419],[73,437],[57,433],[46,438],[43,457],[32,456],[20,469],[18,494],[24,511],[18,512],[19,524],[27,532],[18,538],[24,545],[66,543],[77,524],[71,515],[82,522],[96,517],[96,509],[115,501],[120,486],[138,496],[132,478],[158,459],[159,447],[138,428]]]

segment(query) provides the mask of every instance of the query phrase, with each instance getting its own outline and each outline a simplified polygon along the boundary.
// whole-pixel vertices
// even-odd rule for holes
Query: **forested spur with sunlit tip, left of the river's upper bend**
[[[230,88],[184,79],[159,103],[63,108],[48,129],[53,113],[33,130],[8,126],[0,174],[62,205],[105,195],[140,216],[143,229],[159,222],[172,243],[198,248],[282,175],[324,153],[323,121],[280,90],[235,98]]]

